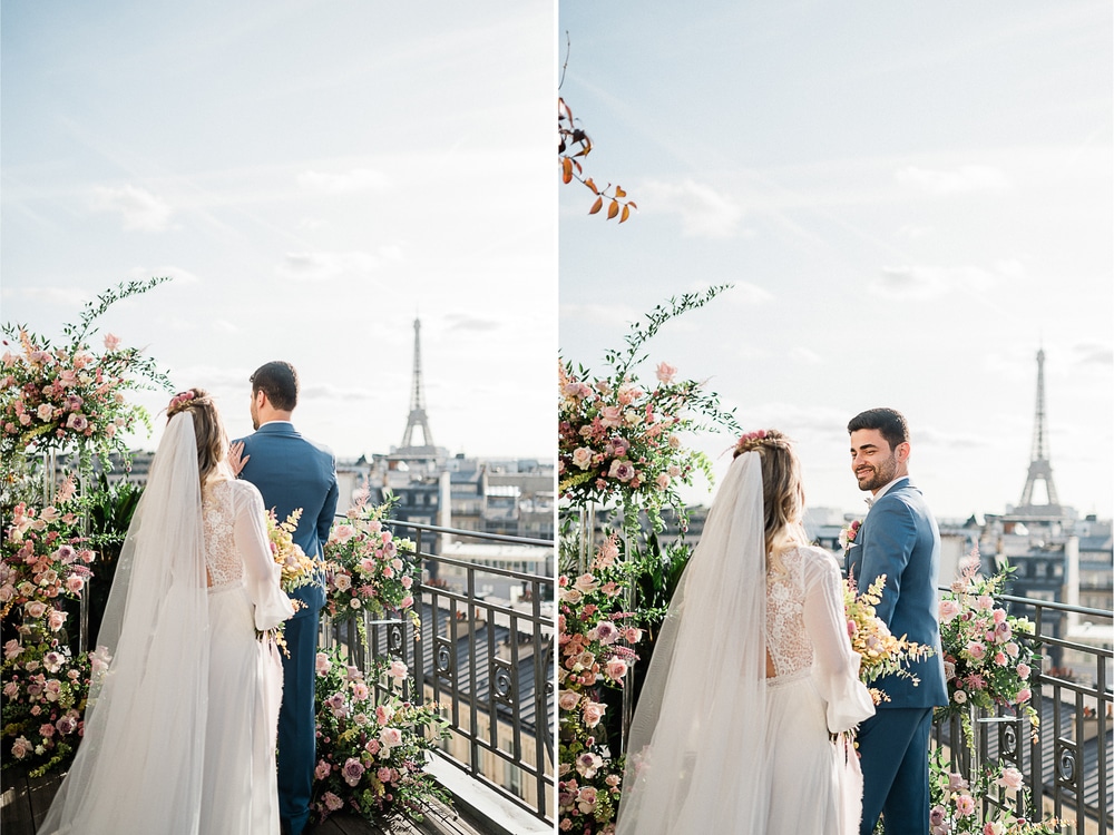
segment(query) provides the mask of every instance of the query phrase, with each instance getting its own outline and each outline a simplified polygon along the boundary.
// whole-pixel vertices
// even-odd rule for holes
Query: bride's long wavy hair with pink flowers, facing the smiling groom
[[[804,531],[804,487],[792,442],[775,429],[750,432],[735,444],[735,458],[756,452],[762,459],[762,510],[765,514],[766,568],[784,572],[781,554],[809,544]]]

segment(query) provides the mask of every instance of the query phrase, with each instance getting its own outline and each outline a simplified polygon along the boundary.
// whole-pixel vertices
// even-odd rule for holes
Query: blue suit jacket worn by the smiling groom
[[[878,687],[890,697],[880,708],[935,707],[948,704],[940,651],[939,603],[936,596],[940,566],[940,532],[925,497],[908,479],[899,481],[874,502],[848,552],[848,574],[863,590],[886,574],[876,615],[899,638],[925,644],[936,655],[910,666],[920,679],[888,676]]]

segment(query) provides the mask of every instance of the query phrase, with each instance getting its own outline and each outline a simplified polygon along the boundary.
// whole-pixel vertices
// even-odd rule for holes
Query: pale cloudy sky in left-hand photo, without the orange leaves
[[[551,460],[555,17],[3,0],[0,321],[57,340],[104,291],[173,276],[94,346],[211,390],[232,436],[251,373],[287,360],[295,424],[354,459],[402,442],[420,317],[432,441]]]

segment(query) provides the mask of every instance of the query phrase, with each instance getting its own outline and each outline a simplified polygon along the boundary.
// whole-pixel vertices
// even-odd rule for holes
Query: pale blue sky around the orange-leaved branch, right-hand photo
[[[559,189],[561,355],[606,373],[628,323],[732,283],[662,330],[641,380],[668,362],[744,428],[786,431],[809,504],[846,513],[866,510],[847,423],[898,409],[913,482],[962,519],[1020,501],[1043,347],[1059,500],[1111,518],[1112,16],[561,0],[584,174],[638,206],[619,226]],[[692,443],[722,477],[731,439]]]

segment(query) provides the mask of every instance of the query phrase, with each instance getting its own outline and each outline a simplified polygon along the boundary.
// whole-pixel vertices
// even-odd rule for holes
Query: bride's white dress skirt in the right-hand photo
[[[824,700],[803,669],[766,679],[769,835],[844,835],[861,807],[858,762],[828,733]]]

